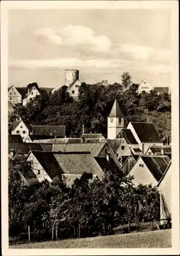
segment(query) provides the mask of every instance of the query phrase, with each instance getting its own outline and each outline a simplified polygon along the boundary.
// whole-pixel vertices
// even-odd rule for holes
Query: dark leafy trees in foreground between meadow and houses
[[[32,180],[28,187],[21,187],[19,173],[22,169],[28,173],[30,168],[26,161],[9,160],[11,237],[27,233],[28,226],[36,235],[42,230],[51,233],[54,227],[56,238],[61,238],[62,229],[80,226],[86,230],[85,236],[93,236],[102,227],[108,226],[108,233],[113,233],[114,227],[129,220],[160,218],[158,191],[151,185],[133,187],[132,178],[122,178],[113,170],[106,172],[103,180],[94,182],[91,173],[84,173],[72,187],[58,177],[52,183]]]

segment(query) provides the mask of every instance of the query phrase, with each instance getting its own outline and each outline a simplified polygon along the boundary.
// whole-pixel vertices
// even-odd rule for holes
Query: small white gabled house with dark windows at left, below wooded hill
[[[12,123],[9,133],[12,135],[20,135],[22,140],[25,141],[26,137],[29,135],[29,129],[20,118]]]

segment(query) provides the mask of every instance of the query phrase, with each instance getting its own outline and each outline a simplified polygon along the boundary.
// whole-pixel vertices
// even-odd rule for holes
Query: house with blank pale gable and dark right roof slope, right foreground
[[[167,156],[139,156],[128,176],[134,177],[132,182],[135,186],[157,186],[169,163],[170,159]]]

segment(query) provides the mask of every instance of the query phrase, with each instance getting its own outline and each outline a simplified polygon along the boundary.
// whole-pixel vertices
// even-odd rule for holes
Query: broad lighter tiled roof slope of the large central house
[[[103,171],[90,152],[54,153],[64,174],[82,175],[84,172],[98,175],[101,179]]]

